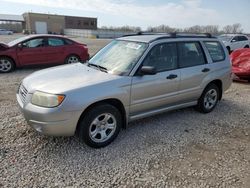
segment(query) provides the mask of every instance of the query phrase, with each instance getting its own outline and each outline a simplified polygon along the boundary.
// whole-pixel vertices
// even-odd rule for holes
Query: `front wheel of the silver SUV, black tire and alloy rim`
[[[88,146],[101,148],[118,136],[121,126],[120,111],[112,105],[101,104],[90,109],[81,119],[78,135]]]

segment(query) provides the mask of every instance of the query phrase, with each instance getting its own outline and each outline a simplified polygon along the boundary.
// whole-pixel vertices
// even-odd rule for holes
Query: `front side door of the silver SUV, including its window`
[[[180,71],[177,69],[176,43],[154,46],[142,65],[155,67],[157,73],[133,77],[130,116],[171,106],[178,101]]]

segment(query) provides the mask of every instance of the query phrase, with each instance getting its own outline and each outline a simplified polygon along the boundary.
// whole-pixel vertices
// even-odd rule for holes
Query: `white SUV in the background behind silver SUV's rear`
[[[239,48],[249,48],[250,40],[246,35],[242,34],[224,34],[218,37],[226,46],[228,52],[232,52]]]

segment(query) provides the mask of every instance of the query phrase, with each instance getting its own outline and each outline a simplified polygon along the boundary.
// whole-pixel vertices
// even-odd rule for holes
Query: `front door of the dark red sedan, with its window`
[[[44,64],[47,62],[46,39],[32,38],[17,48],[17,57],[21,65]]]

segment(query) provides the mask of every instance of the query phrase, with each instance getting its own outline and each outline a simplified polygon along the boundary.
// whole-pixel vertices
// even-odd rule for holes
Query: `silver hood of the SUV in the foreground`
[[[96,70],[82,63],[76,63],[37,71],[27,76],[22,83],[29,93],[38,90],[63,94],[70,90],[119,78],[120,76]]]

